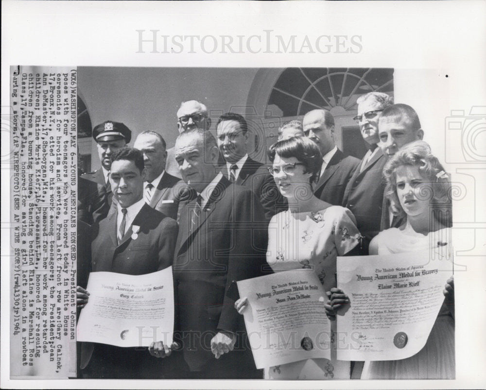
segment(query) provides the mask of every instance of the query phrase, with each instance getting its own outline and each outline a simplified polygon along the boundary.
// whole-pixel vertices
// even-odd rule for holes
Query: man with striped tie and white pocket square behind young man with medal
[[[167,158],[164,138],[153,131],[144,131],[133,145],[143,154],[146,181],[143,198],[150,207],[178,220],[179,205],[191,199],[191,188],[179,178],[165,171]]]

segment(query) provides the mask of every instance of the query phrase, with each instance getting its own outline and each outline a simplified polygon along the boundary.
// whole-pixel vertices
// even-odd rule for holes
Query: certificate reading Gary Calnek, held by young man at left
[[[91,272],[89,300],[81,310],[78,341],[119,347],[170,345],[174,332],[172,267],[146,275]]]

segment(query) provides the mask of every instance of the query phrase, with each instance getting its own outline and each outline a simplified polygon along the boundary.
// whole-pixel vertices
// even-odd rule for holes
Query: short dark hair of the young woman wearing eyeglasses
[[[322,167],[322,154],[319,147],[308,137],[292,137],[274,143],[268,150],[268,157],[273,163],[275,155],[295,157],[304,164],[305,172],[312,173],[311,181],[319,174]]]

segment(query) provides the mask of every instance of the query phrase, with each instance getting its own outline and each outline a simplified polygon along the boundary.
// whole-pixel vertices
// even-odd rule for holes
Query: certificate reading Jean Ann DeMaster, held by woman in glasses
[[[294,270],[238,282],[248,298],[244,322],[257,368],[330,358],[326,293],[314,271]]]

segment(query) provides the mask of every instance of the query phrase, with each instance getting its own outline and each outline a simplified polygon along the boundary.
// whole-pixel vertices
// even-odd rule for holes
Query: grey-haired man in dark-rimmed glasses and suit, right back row
[[[347,184],[343,206],[356,217],[358,230],[364,237],[362,251],[368,254],[369,242],[380,232],[385,187],[382,171],[386,156],[378,146],[378,119],[393,104],[393,99],[382,92],[370,92],[360,96],[357,103],[358,115],[354,119],[369,150]]]

